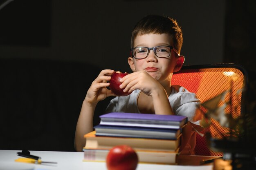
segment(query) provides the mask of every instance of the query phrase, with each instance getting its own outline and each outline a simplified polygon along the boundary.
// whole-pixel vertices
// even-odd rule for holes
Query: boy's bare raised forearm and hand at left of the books
[[[76,151],[81,152],[83,150],[86,141],[83,136],[93,130],[93,115],[97,103],[108,96],[115,96],[111,90],[106,88],[109,86],[108,81],[110,81],[113,72],[114,70],[110,69],[102,70],[87,91],[76,124],[74,141]]]

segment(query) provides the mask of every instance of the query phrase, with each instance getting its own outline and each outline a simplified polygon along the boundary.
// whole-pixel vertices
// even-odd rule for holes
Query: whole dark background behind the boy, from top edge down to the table
[[[0,9],[0,149],[74,151],[87,89],[101,69],[131,72],[130,33],[148,14],[178,21],[184,65],[256,71],[254,0],[14,0]]]

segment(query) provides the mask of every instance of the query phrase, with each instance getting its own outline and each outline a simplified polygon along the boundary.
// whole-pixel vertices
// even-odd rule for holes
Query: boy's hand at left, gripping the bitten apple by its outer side
[[[107,89],[108,81],[111,79],[111,74],[114,70],[104,69],[99,76],[92,82],[92,85],[87,91],[85,101],[90,105],[96,105],[99,101],[104,100],[108,96],[116,96],[111,90]]]

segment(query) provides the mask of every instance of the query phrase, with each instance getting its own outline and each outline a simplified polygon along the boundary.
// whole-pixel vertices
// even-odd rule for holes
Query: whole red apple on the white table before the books
[[[106,163],[108,170],[135,170],[138,156],[130,146],[118,145],[108,152]]]

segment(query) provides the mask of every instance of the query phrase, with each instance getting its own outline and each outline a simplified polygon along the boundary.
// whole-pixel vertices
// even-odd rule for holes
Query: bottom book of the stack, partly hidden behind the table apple
[[[110,149],[84,149],[83,161],[106,161]],[[138,155],[139,163],[159,163],[159,164],[176,164],[177,162],[177,149],[173,152],[161,151],[144,151],[135,150]]]

